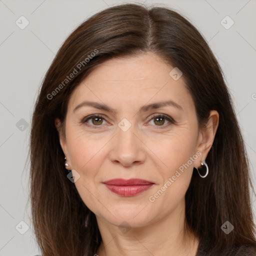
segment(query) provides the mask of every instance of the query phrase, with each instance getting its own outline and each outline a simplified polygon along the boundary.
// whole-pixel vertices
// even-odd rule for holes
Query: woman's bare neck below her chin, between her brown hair
[[[199,239],[184,229],[184,205],[177,206],[164,219],[143,227],[131,227],[127,232],[96,216],[102,242],[99,256],[195,256]]]

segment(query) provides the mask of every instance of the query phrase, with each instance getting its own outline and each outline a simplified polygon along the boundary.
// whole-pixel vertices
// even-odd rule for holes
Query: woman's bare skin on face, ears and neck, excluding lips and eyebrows
[[[65,134],[55,119],[67,169],[79,173],[77,191],[96,215],[102,237],[99,256],[196,254],[198,238],[184,230],[184,196],[193,166],[200,166],[212,145],[218,113],[212,110],[207,126],[199,129],[192,97],[182,76],[174,80],[169,75],[172,68],[153,53],[108,60],[72,92]],[[164,106],[138,112],[142,105],[169,99],[182,110]],[[91,106],[73,111],[84,100],[104,103],[116,113]],[[91,114],[102,114],[103,120],[81,122]],[[175,123],[159,120],[157,114],[166,114]],[[118,126],[123,118],[131,123],[126,131]],[[201,155],[158,198],[149,201],[198,151]],[[112,178],[141,178],[154,185],[137,195],[121,196],[102,183]]]

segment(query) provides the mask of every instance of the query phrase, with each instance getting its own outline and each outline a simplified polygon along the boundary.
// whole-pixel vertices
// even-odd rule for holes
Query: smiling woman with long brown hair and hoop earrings
[[[255,255],[221,69],[171,9],[110,7],[68,36],[41,86],[30,153],[43,256]]]

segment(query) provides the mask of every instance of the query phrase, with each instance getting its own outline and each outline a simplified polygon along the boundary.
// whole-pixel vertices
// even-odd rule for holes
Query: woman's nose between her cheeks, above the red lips
[[[125,167],[132,164],[138,165],[145,161],[145,147],[139,135],[134,133],[133,125],[126,131],[118,127],[117,134],[112,141],[109,157],[112,162],[120,163]]]

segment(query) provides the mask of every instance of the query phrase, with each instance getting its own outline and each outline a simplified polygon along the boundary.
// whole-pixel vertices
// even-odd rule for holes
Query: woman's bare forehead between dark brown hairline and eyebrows
[[[93,100],[121,109],[171,99],[189,109],[193,107],[191,95],[182,76],[174,80],[169,74],[172,69],[152,53],[109,59],[74,89],[69,106],[73,109],[84,100]]]

